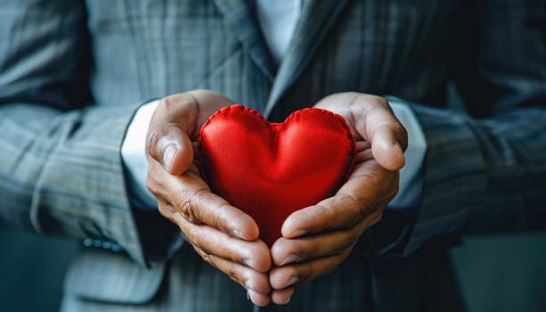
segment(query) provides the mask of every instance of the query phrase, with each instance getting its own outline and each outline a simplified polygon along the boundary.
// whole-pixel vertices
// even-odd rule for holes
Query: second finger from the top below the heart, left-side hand
[[[265,242],[241,241],[209,226],[194,225],[180,216],[175,218],[176,224],[188,241],[192,242],[196,250],[202,252],[200,253],[201,257],[211,264],[224,265],[224,267],[218,267],[223,272],[230,273],[225,271],[227,263],[237,264],[239,269],[249,267],[256,272],[267,272],[270,269],[271,256]],[[238,276],[240,277],[240,275]]]

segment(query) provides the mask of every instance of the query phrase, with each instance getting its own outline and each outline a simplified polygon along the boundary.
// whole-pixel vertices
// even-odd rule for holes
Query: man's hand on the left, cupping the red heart
[[[264,306],[271,301],[270,251],[258,240],[256,222],[210,191],[193,157],[200,127],[231,103],[221,94],[202,90],[161,100],[147,137],[147,186],[158,200],[159,212],[180,227],[200,256]]]

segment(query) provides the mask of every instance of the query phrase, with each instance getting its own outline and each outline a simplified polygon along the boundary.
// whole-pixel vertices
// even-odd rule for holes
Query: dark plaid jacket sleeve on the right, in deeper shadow
[[[414,106],[428,155],[404,253],[443,236],[546,228],[546,3],[463,3],[456,16],[468,17],[451,48],[466,110]]]

